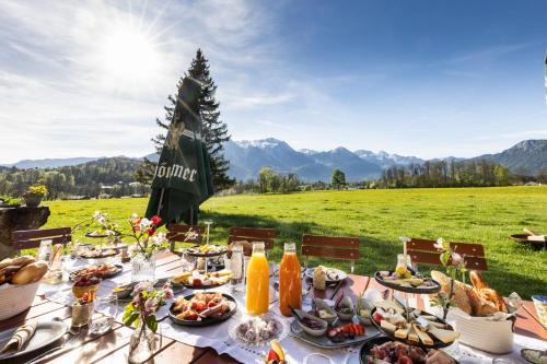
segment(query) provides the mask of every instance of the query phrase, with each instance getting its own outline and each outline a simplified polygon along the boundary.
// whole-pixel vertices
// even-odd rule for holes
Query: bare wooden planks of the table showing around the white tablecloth
[[[181,271],[181,259],[174,254],[166,254],[158,260],[158,270],[161,272],[171,272],[175,274]],[[346,294],[357,297],[366,289],[386,291],[384,286],[377,284],[372,278],[350,274],[348,280],[340,286],[329,287],[324,292],[317,291],[314,294],[325,298],[333,298],[344,290]],[[387,290],[386,294],[392,295],[393,292]],[[420,296],[415,296],[414,298],[417,302],[418,308],[423,308],[423,302]],[[49,321],[54,317],[58,317],[70,322],[70,315],[71,313],[68,307],[37,296],[30,309],[13,318],[0,321],[0,331],[20,326],[31,318],[38,321]],[[71,348],[66,348],[45,356],[40,363],[126,363],[129,352],[128,341],[132,329],[116,322],[106,333],[94,337],[83,337]],[[539,318],[535,313],[532,302],[526,302],[525,309],[520,310],[517,314],[515,332],[540,340],[547,340],[547,330],[539,324]],[[212,349],[190,347],[161,336],[158,336],[158,339],[160,343],[159,349],[149,363],[238,363],[229,355],[217,354]],[[44,351],[47,349],[44,349]],[[22,363],[23,361],[31,360],[37,354],[36,352],[30,357],[19,357],[15,361],[7,361],[5,363]]]

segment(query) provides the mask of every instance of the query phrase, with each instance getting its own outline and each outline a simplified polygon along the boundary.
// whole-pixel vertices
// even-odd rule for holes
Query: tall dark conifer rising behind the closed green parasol
[[[177,90],[182,85],[185,77],[190,77],[201,83],[201,94],[199,95],[199,116],[201,117],[202,138],[210,156],[211,175],[216,190],[223,190],[232,187],[235,179],[230,178],[228,171],[230,162],[224,158],[223,143],[230,140],[228,126],[220,119],[219,103],[214,98],[217,85],[209,71],[209,61],[205,58],[201,49],[198,49],[196,57],[190,63],[188,72],[178,80]],[[173,121],[173,113],[176,106],[176,96],[167,96],[168,104],[164,106],[165,116],[163,120],[155,119],[156,125],[165,132],[160,132],[152,138],[158,153],[161,153],[165,141],[166,130]],[[141,183],[150,183],[155,169],[155,163],[144,160],[141,168],[136,173],[136,179]]]

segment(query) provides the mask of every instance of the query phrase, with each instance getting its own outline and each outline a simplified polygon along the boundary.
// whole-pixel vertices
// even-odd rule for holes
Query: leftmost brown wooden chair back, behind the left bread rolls
[[[62,244],[66,248],[67,243],[72,240],[72,233],[70,227],[20,230],[13,232],[11,237],[12,248],[21,251],[39,247],[42,240],[51,240],[51,245]]]

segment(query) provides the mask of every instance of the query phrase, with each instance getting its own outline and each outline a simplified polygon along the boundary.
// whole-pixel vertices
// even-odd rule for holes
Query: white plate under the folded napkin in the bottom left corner
[[[16,329],[19,329],[19,327],[0,332],[0,348],[5,345]],[[31,340],[23,347],[23,350],[8,355],[0,355],[0,360],[28,354],[35,350],[47,347],[59,340],[67,332],[67,330],[68,325],[65,322],[38,322],[36,331],[34,331]]]

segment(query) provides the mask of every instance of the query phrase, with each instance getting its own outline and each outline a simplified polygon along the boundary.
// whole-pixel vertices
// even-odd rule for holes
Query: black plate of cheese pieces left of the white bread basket
[[[409,345],[445,348],[459,337],[445,320],[419,309],[407,313],[394,301],[376,302],[371,317],[384,334]]]

